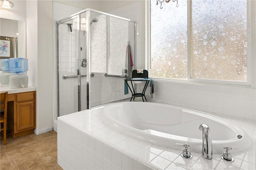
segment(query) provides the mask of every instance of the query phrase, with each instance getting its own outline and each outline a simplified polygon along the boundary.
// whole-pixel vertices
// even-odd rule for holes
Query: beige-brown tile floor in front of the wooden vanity
[[[57,164],[57,133],[7,137],[0,145],[0,170],[61,170]]]

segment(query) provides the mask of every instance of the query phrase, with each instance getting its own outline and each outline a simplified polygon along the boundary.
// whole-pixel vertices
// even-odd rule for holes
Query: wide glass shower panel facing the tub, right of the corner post
[[[88,23],[90,73],[95,75],[89,81],[90,107],[130,98],[124,78],[134,69],[135,23],[93,11]]]

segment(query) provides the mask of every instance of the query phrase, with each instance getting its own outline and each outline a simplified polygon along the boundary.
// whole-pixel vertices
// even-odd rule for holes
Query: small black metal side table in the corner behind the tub
[[[136,79],[137,79],[137,78],[126,78],[126,79],[124,79],[124,81],[127,82],[128,88],[129,88],[130,91],[132,92],[133,100],[134,100],[135,97],[142,97],[142,101],[144,102],[144,99],[143,99],[143,97],[144,97],[145,100],[148,102],[148,100],[146,99],[146,96],[145,96],[145,92],[146,92],[146,89],[147,89],[147,87],[148,87],[148,83],[149,83],[149,81],[150,81],[152,78],[144,78],[144,79],[140,79],[140,80],[136,80]],[[144,81],[144,82],[146,82],[146,83],[145,83],[145,86],[144,86],[144,88],[143,88],[143,90],[142,90],[142,93],[135,93],[133,84],[132,84],[132,89],[131,89],[130,86],[129,86],[129,84],[128,84],[128,81],[130,81],[131,84],[132,84],[132,81]],[[132,97],[131,97],[130,102],[132,101]]]

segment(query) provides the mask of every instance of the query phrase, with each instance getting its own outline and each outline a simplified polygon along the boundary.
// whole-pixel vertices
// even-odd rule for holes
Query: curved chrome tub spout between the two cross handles
[[[212,137],[208,125],[202,123],[199,130],[203,131],[202,157],[212,159]]]

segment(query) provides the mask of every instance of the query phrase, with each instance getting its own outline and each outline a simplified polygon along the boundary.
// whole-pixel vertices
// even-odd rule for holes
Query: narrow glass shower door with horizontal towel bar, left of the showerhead
[[[79,15],[58,25],[59,116],[80,111]]]

